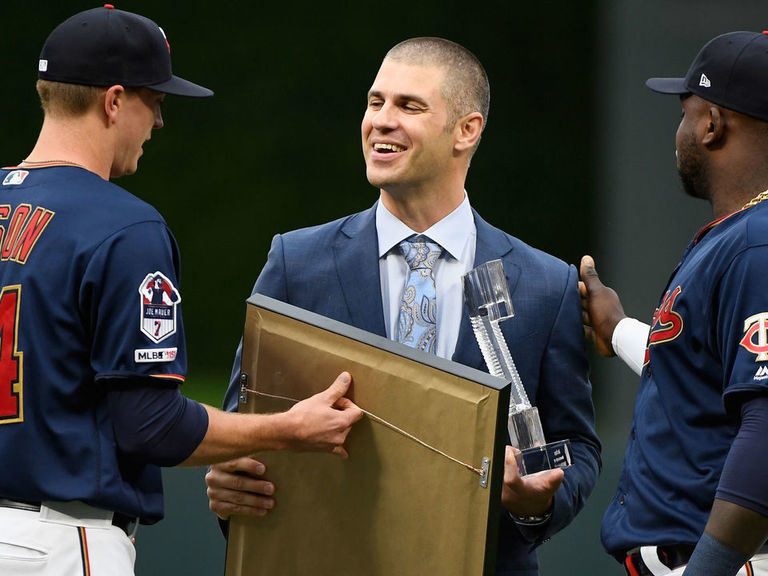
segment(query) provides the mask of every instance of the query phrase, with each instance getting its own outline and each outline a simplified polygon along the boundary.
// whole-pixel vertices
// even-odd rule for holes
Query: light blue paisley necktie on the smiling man
[[[430,354],[437,353],[437,296],[434,266],[443,253],[426,236],[410,236],[400,242],[409,273],[400,301],[397,341]]]

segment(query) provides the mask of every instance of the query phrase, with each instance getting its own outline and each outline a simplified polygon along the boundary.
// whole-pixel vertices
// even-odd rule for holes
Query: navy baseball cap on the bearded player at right
[[[729,32],[707,42],[685,78],[649,78],[662,94],[700,98],[768,122],[768,32]]]

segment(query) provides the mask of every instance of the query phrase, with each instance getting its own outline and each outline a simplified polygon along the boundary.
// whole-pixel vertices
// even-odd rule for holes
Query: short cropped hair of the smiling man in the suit
[[[384,59],[406,64],[439,66],[445,70],[441,93],[448,103],[449,125],[471,112],[483,115],[488,122],[491,88],[488,76],[477,57],[463,46],[436,37],[403,40],[387,52]]]

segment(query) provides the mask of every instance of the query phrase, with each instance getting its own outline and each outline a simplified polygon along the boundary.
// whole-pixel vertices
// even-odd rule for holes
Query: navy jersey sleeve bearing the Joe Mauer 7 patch
[[[179,253],[163,222],[121,229],[94,252],[79,294],[96,381],[179,384],[186,374]]]

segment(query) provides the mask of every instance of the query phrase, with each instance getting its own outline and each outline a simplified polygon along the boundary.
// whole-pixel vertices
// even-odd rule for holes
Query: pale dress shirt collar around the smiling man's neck
[[[475,218],[469,206],[469,197],[464,192],[464,200],[448,216],[422,232],[440,244],[443,250],[455,259],[460,259],[467,241],[473,235]],[[379,199],[376,205],[376,234],[379,239],[379,258],[387,254],[400,242],[418,234],[403,224],[392,214]]]

